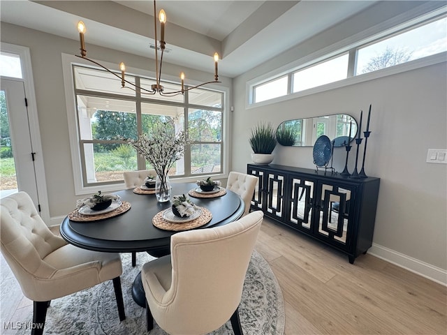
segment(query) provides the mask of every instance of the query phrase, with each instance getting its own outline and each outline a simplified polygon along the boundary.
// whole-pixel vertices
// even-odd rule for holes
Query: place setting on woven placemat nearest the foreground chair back
[[[212,219],[211,212],[205,207],[198,207],[191,202],[188,195],[174,195],[173,205],[159,211],[154,218],[152,224],[156,228],[163,230],[189,230],[201,227]]]

